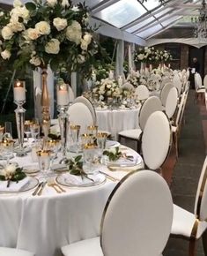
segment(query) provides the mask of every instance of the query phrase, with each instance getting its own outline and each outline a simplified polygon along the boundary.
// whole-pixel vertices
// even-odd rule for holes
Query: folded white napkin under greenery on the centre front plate
[[[76,175],[71,175],[70,173],[63,174],[63,179],[66,184],[74,184],[74,185],[84,185],[84,184],[93,184],[98,183],[102,177],[101,174],[97,175],[88,175],[89,178],[92,180],[86,178],[86,177],[80,177]]]

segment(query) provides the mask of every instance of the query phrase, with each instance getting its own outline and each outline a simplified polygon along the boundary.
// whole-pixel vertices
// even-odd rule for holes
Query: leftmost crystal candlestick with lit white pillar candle
[[[13,87],[14,103],[18,105],[15,109],[16,123],[18,130],[18,148],[16,149],[17,156],[25,156],[26,151],[23,147],[24,143],[24,123],[25,123],[25,112],[26,109],[23,108],[26,102],[26,84],[25,81],[16,80],[14,81]]]

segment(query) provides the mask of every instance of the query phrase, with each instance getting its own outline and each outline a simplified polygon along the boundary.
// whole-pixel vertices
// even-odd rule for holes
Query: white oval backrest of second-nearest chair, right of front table
[[[171,145],[171,125],[161,111],[148,118],[142,137],[144,163],[149,169],[159,169],[165,162]]]

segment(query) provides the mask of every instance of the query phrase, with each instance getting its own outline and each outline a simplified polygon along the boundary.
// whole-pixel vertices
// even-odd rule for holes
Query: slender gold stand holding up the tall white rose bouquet
[[[48,131],[50,126],[50,100],[48,94],[48,84],[47,84],[48,72],[46,68],[42,69],[41,72],[41,107],[42,107],[42,123],[41,128],[44,133],[44,139],[48,139]]]

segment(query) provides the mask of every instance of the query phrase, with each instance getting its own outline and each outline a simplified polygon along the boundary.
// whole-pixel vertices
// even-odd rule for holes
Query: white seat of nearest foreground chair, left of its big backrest
[[[100,237],[83,240],[61,248],[64,256],[103,256]]]

